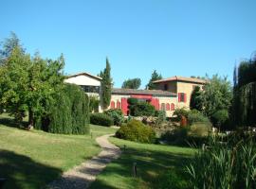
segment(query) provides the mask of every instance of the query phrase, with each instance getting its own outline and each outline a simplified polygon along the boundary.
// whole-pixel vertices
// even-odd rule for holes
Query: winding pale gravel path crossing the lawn
[[[111,134],[103,135],[96,138],[97,143],[101,146],[102,151],[98,156],[91,160],[76,166],[67,172],[59,180],[52,181],[47,188],[50,189],[84,189],[88,188],[90,183],[96,180],[96,176],[101,173],[107,163],[119,158],[120,149],[108,142],[107,138]]]

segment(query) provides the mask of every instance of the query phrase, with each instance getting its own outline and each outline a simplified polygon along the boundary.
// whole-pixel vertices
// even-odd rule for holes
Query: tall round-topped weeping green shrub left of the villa
[[[89,100],[79,86],[65,84],[49,103],[49,114],[37,119],[38,129],[52,133],[85,134],[89,132]]]

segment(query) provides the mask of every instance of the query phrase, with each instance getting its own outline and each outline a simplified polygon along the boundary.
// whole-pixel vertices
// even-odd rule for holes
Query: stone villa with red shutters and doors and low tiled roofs
[[[65,78],[64,82],[81,86],[86,94],[97,96],[101,101],[101,80],[101,77],[83,72]],[[165,111],[171,117],[175,108],[189,109],[193,88],[199,86],[202,89],[206,82],[192,77],[169,77],[155,80],[156,90],[113,88],[109,109],[120,109],[124,115],[128,115],[127,99],[134,97],[149,102],[155,106],[155,110]],[[101,105],[99,112],[102,112]]]

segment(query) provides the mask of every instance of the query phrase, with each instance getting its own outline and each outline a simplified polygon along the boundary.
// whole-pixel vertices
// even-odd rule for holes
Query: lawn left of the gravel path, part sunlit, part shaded
[[[91,126],[91,138],[90,134],[51,134],[0,124],[0,178],[7,178],[6,188],[41,188],[98,154],[101,148],[95,137],[115,130]]]

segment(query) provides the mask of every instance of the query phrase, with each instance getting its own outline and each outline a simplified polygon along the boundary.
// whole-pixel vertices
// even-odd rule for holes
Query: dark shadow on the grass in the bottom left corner
[[[7,179],[3,188],[43,188],[62,174],[62,170],[36,163],[27,156],[0,150],[0,178]]]

